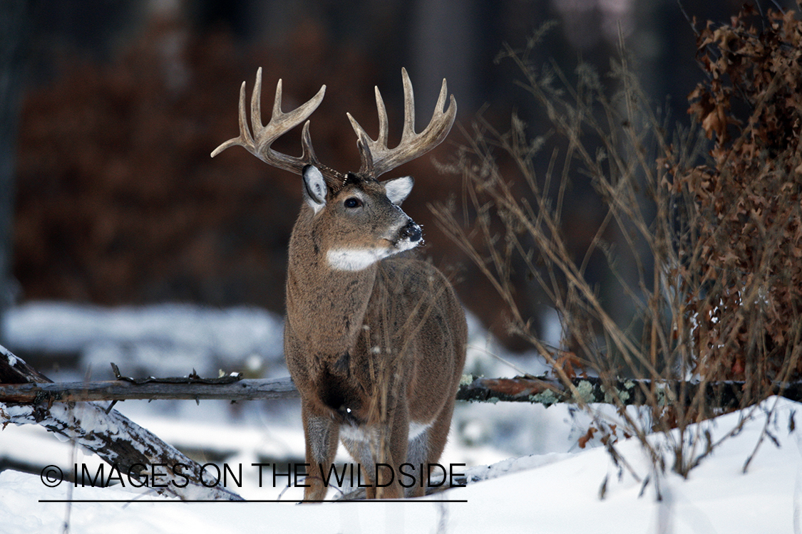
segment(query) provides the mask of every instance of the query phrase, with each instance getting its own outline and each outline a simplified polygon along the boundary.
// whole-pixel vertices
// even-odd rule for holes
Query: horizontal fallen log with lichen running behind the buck
[[[2,365],[0,365],[2,367]],[[742,398],[743,382],[699,383],[680,380],[616,379],[576,377],[572,380],[579,398],[559,380],[547,377],[485,378],[464,375],[457,400],[470,402],[528,402],[550,406],[556,403],[614,403],[622,405],[682,402],[690,404],[704,395],[707,405],[737,408]],[[700,391],[700,388],[702,391]],[[768,395],[782,395],[802,401],[802,383],[775,384]],[[297,399],[298,390],[289,376],[278,379],[241,379],[229,375],[205,379],[196,375],[62,383],[0,384],[0,403],[48,404],[134,399],[189,399],[230,401]]]

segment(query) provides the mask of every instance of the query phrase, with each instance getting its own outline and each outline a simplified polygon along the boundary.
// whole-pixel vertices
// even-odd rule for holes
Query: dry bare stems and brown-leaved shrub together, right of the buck
[[[792,17],[772,21],[767,31],[793,30],[799,37]],[[745,30],[727,34],[723,28],[703,33],[701,46],[747,36]],[[746,61],[738,70],[731,46],[716,69],[751,74],[737,78],[741,89],[695,91],[693,109],[707,114],[703,127],[687,130],[669,126],[654,110],[623,50],[606,78],[581,65],[574,73],[577,82],[569,82],[553,64],[535,66],[541,32],[525,48],[507,48],[503,56],[520,68],[520,86],[543,110],[548,124],[537,127],[544,133],[531,135],[515,116],[507,133],[478,120],[456,162],[446,166],[462,175],[463,203],[437,207],[435,215],[504,299],[510,329],[551,363],[574,397],[581,399],[581,391],[569,379],[573,362],[581,362],[585,372],[606,381],[622,432],[641,441],[655,473],[662,472],[668,452],[674,471],[687,476],[716,445],[702,426],[691,433],[690,425],[725,409],[720,390],[707,383],[746,379],[743,395],[726,408],[744,407],[763,399],[772,380],[787,377],[798,364],[800,122],[775,116],[796,117],[800,110],[796,86],[784,75],[791,67],[766,50],[762,64],[779,70],[759,74]],[[791,48],[798,46],[765,40],[776,42],[788,62],[796,61]],[[793,68],[792,78],[802,80],[800,67]],[[761,95],[748,115],[754,118],[730,140],[727,128],[736,121],[729,103],[735,93],[750,92]],[[772,130],[783,125],[790,130]],[[711,131],[720,139],[706,155],[704,137]],[[544,155],[547,146],[552,150]],[[707,165],[699,166],[706,157]],[[580,179],[593,185],[605,216],[593,228],[587,250],[577,253],[563,214],[565,191]],[[600,256],[604,272],[589,276],[590,259]],[[538,339],[536,321],[516,299],[516,292],[527,291],[512,283],[516,271],[525,271],[561,316],[560,347]],[[594,279],[607,281],[600,285]],[[736,358],[743,361],[740,375],[734,373]],[[568,368],[566,361],[572,362]],[[622,375],[642,379],[646,412],[626,408],[614,387]],[[689,379],[701,382],[692,395]],[[678,432],[670,432],[674,429]],[[646,440],[655,430],[666,433],[667,451]],[[622,460],[614,440],[606,446]]]

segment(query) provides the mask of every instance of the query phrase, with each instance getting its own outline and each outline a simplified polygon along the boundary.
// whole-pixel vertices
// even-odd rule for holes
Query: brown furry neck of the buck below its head
[[[362,331],[377,267],[335,271],[326,252],[320,232],[302,214],[290,237],[287,322],[291,335],[320,357],[338,358]]]

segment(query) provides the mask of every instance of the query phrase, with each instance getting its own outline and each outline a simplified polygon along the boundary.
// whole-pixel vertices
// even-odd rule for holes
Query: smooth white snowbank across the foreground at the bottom
[[[117,488],[71,488],[68,483],[47,488],[38,476],[6,471],[0,473],[0,521],[4,532],[59,532],[67,504],[41,500],[138,498],[133,503],[73,503],[71,530],[290,532],[300,527],[310,532],[439,532],[444,521],[445,532],[795,532],[802,504],[802,440],[799,432],[790,431],[788,421],[799,408],[785,399],[765,401],[743,431],[723,441],[688,480],[674,474],[660,477],[662,501],[655,500],[653,483],[640,496],[643,484],[616,467],[603,448],[592,448],[470,468],[469,474],[484,472],[495,478],[425,500],[301,508],[292,500],[180,504]],[[713,431],[727,432],[740,415],[719,417]],[[767,420],[777,444],[764,440],[744,474],[744,461]],[[660,441],[658,436],[654,440]],[[634,440],[619,443],[618,452],[641,480],[652,471]],[[606,496],[600,499],[606,479]],[[467,502],[425,502],[432,498]]]

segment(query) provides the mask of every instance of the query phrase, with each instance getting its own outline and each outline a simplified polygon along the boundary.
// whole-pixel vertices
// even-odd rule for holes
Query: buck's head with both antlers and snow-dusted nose
[[[405,251],[422,243],[420,227],[399,209],[407,198],[413,179],[409,176],[378,183],[376,179],[431,151],[442,143],[451,130],[456,117],[456,100],[452,95],[448,109],[444,109],[448,89],[446,81],[440,87],[428,126],[415,133],[415,98],[406,69],[401,70],[404,94],[404,122],[401,141],[395,148],[387,147],[387,110],[379,87],[375,88],[376,107],[379,110],[379,136],[371,139],[362,126],[347,114],[357,135],[357,147],[362,165],[357,173],[343,175],[319,163],[314,154],[310,138],[310,121],[307,120],[323,101],[326,86],[308,102],[297,109],[282,111],[282,81],[276,87],[273,112],[267,125],[261,123],[261,67],[257,70],[256,83],[251,95],[251,124],[245,118],[245,82],[240,89],[239,122],[240,135],[222,143],[212,152],[212,157],[226,148],[238,145],[257,156],[265,163],[302,175],[304,200],[314,215],[328,203],[334,207],[326,211],[318,225],[338,228],[327,235],[336,237],[334,243],[326,243],[326,256],[330,267],[345,271],[359,271],[379,259],[396,252]],[[271,148],[273,142],[286,131],[304,123],[302,130],[303,152],[300,158],[282,154]],[[342,194],[341,194],[342,193]],[[334,203],[334,199],[340,200]],[[393,209],[395,208],[395,209]],[[368,232],[370,231],[370,232]]]

